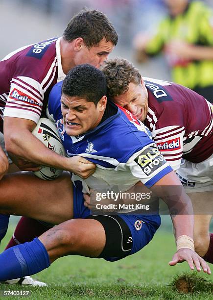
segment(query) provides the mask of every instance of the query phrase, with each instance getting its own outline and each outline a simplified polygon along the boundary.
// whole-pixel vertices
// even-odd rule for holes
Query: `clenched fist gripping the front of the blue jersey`
[[[83,179],[88,178],[95,172],[96,166],[93,162],[81,156],[73,156],[70,158],[71,172]]]

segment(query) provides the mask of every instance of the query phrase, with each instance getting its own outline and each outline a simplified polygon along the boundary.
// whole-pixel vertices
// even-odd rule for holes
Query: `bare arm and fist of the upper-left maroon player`
[[[85,158],[64,157],[45,147],[31,133],[35,126],[36,124],[31,120],[13,117],[4,119],[5,146],[21,170],[36,171],[37,168],[33,164],[37,164],[73,172],[82,178],[87,178],[95,172],[95,164]]]

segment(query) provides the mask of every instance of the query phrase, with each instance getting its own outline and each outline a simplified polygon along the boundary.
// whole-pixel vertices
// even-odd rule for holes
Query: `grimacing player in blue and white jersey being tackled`
[[[82,186],[84,191],[97,185],[128,190],[139,181],[151,190],[160,186],[157,196],[163,197],[169,208],[172,195],[168,186],[182,189],[179,202],[183,214],[172,218],[177,252],[169,264],[186,260],[192,270],[195,265],[197,271],[202,267],[210,274],[206,262],[194,252],[188,196],[146,128],[107,102],[103,73],[89,65],[77,66],[64,80],[61,103],[58,91],[60,85],[53,90],[48,107],[64,147],[69,156],[80,155],[94,162],[96,171],[84,181],[73,175],[73,185],[66,175],[53,182],[27,174],[6,175],[0,181],[0,213],[61,223],[32,242],[1,253],[0,280],[38,273],[65,255],[115,261],[141,250],[160,225],[157,213],[91,215],[82,193]]]

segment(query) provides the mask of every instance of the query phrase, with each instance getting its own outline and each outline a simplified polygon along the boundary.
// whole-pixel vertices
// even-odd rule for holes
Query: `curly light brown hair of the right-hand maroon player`
[[[111,100],[128,91],[130,82],[141,84],[142,76],[139,70],[124,58],[109,59],[100,70],[106,77],[107,95]]]

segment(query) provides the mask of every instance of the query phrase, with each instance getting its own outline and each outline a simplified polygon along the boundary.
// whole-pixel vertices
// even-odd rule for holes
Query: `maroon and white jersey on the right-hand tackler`
[[[174,170],[181,158],[193,163],[213,153],[213,106],[188,88],[143,77],[148,91],[144,121],[153,140]]]

